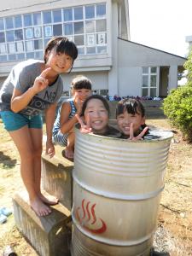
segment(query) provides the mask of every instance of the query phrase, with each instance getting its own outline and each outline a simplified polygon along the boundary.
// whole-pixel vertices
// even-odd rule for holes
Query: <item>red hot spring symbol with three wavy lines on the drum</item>
[[[79,224],[85,229],[94,234],[102,234],[107,230],[107,224],[102,218],[96,218],[95,204],[90,201],[86,202],[85,199],[81,202],[81,207],[76,209],[76,217]]]

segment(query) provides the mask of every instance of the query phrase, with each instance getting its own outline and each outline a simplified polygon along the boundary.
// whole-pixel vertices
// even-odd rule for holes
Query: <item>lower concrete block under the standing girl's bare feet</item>
[[[26,192],[13,198],[15,224],[40,256],[70,256],[71,212],[61,204],[51,207],[46,217],[38,217],[28,203]]]

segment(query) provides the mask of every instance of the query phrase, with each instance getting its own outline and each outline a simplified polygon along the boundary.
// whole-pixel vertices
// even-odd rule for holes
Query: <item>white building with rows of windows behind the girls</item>
[[[79,48],[73,73],[102,95],[166,96],[186,61],[130,41],[128,0],[6,0],[0,5],[0,86],[17,61],[42,58],[49,38],[66,35]]]

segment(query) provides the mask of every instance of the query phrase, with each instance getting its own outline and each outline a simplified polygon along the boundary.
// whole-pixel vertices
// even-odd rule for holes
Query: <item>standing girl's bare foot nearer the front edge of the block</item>
[[[30,201],[32,210],[40,217],[49,215],[51,210],[47,207],[43,201],[36,197],[33,201]]]

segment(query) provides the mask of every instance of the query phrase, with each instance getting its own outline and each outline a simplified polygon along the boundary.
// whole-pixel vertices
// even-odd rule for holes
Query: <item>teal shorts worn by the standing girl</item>
[[[7,131],[16,131],[25,125],[27,125],[28,128],[41,129],[43,127],[42,116],[40,114],[32,117],[12,111],[2,111],[0,114],[4,128]]]

